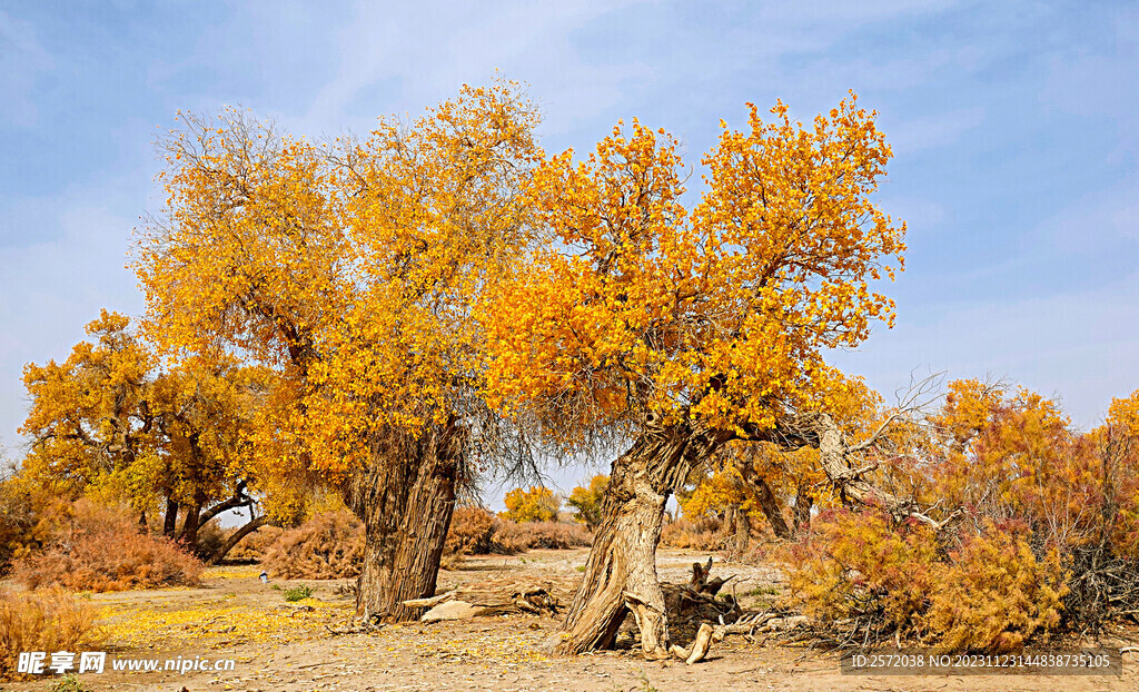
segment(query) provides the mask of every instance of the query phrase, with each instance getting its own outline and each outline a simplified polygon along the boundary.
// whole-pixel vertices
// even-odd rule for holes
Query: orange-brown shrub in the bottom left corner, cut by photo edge
[[[95,609],[60,588],[0,591],[0,681],[16,676],[22,651],[98,648]]]

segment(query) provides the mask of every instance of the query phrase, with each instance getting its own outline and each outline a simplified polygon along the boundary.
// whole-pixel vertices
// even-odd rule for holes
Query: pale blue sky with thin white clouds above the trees
[[[550,152],[637,116],[694,164],[745,101],[810,119],[853,89],[894,146],[879,196],[910,251],[898,326],[835,361],[887,394],[915,369],[1005,376],[1081,426],[1139,388],[1134,3],[0,0],[0,438],[25,363],[65,358],[99,308],[140,314],[124,264],[177,111],[363,132],[495,68],[530,84]]]

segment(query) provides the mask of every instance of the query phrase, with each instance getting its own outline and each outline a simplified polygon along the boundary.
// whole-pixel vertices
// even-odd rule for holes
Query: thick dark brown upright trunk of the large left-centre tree
[[[454,510],[461,431],[446,426],[395,454],[385,446],[345,488],[364,522],[357,616],[367,621],[415,619],[402,601],[435,594],[439,562]]]

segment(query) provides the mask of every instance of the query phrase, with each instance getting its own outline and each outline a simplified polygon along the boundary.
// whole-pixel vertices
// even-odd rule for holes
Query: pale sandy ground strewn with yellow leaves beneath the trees
[[[542,584],[568,603],[588,551],[531,551],[510,557],[468,559],[441,572],[440,588],[464,583],[507,580]],[[662,579],[685,581],[693,561],[705,553],[662,551]],[[195,589],[162,589],[91,596],[110,637],[103,674],[77,676],[91,691],[170,692],[261,690],[265,692],[379,690],[1136,690],[1139,668],[1125,657],[1121,676],[854,676],[842,675],[838,658],[777,641],[730,636],[707,660],[647,662],[631,636],[623,650],[575,658],[551,657],[541,642],[557,620],[538,616],[476,618],[433,625],[388,626],[367,634],[336,635],[345,627],[352,597],[347,581],[261,584],[255,567],[211,569]],[[714,573],[738,575],[745,606],[760,606],[778,593],[777,570],[718,563]],[[287,604],[282,592],[309,585],[311,599]],[[166,660],[233,659],[230,671],[161,670]],[[157,659],[157,671],[114,671],[115,659]],[[0,683],[11,692],[47,691],[47,677]]]

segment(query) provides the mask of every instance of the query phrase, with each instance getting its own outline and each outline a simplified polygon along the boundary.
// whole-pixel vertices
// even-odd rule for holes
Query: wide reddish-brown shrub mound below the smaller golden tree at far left
[[[80,499],[57,506],[40,530],[48,536],[43,547],[13,565],[13,576],[30,588],[108,592],[200,584],[200,562],[172,540],[140,531],[124,508]]]

